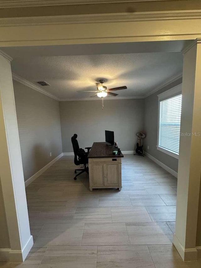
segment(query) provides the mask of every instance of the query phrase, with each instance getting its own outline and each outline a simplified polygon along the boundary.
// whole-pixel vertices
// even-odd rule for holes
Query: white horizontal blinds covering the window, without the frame
[[[179,154],[182,95],[160,101],[158,146]]]

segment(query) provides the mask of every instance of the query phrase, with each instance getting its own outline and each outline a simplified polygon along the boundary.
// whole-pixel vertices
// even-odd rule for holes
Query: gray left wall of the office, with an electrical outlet
[[[27,180],[62,153],[59,102],[16,81],[13,83],[24,180]]]

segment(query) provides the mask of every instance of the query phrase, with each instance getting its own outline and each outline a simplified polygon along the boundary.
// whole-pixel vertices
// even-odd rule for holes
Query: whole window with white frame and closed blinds
[[[157,149],[178,159],[182,108],[181,85],[158,95]]]

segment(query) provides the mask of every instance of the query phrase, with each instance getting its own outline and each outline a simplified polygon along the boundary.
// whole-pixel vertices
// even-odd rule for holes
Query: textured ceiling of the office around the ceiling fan
[[[119,90],[120,97],[143,96],[173,75],[182,72],[180,52],[133,53],[89,56],[16,58],[12,72],[42,87],[60,99],[86,98],[93,95],[83,90],[96,90],[95,83],[105,79],[108,88]],[[37,84],[36,84],[37,85]],[[79,91],[79,92],[77,92]]]

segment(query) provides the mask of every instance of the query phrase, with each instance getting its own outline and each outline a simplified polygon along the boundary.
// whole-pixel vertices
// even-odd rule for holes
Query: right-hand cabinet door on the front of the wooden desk
[[[119,184],[119,165],[118,164],[107,164],[105,165],[105,185],[107,186],[118,186]]]

